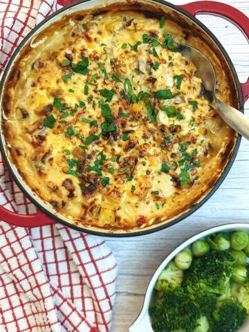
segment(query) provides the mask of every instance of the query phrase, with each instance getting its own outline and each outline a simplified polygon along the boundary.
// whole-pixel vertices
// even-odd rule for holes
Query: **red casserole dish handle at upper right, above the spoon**
[[[198,13],[214,14],[237,26],[249,41],[249,18],[240,12],[236,8],[226,5],[225,3],[217,1],[196,1],[192,3],[186,3],[183,6],[178,6],[191,15],[195,16]],[[241,83],[241,89],[243,93],[243,101],[246,102],[249,98],[249,78],[247,82]]]

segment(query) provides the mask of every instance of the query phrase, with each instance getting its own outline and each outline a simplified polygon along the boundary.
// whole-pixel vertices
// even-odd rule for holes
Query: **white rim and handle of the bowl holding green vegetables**
[[[221,225],[218,227],[210,228],[209,230],[205,230],[204,232],[201,232],[199,234],[194,235],[194,237],[191,237],[187,241],[183,242],[180,246],[178,246],[174,251],[172,251],[163,261],[162,264],[158,267],[156,270],[156,273],[154,273],[154,276],[151,278],[151,281],[149,282],[149,286],[147,288],[146,294],[145,294],[145,300],[144,304],[142,306],[142,311],[138,315],[137,319],[129,328],[129,332],[154,332],[151,327],[151,320],[149,317],[149,305],[151,303],[151,298],[154,294],[154,286],[157,282],[157,279],[160,275],[160,273],[163,271],[165,266],[169,264],[169,261],[172,261],[172,259],[184,248],[187,246],[190,246],[191,243],[193,243],[196,240],[202,239],[203,237],[207,237],[209,234],[213,234],[216,232],[234,232],[236,230],[243,230],[249,234],[249,224],[247,223],[231,223],[228,225]],[[241,329],[239,329],[238,332],[248,332],[249,331],[249,318],[246,320],[246,322],[243,324]]]

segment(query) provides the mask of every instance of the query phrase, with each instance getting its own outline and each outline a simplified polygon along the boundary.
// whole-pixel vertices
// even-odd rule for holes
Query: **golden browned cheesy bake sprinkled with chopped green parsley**
[[[19,62],[10,154],[75,223],[131,230],[171,219],[221,172],[227,127],[171,33],[138,12],[89,14],[36,37]]]

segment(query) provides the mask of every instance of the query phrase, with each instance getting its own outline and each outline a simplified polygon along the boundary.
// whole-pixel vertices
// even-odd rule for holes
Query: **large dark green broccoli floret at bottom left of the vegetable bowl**
[[[149,309],[154,332],[193,332],[201,312],[183,288],[164,290],[156,305]]]

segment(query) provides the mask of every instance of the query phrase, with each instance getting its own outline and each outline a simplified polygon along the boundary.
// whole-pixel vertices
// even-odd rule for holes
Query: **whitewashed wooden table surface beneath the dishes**
[[[187,1],[170,1],[176,5]],[[249,0],[220,0],[249,16]],[[230,55],[241,82],[249,75],[249,45],[242,33],[219,17],[198,15]],[[246,103],[249,116],[249,102]],[[129,239],[106,239],[118,262],[116,305],[111,332],[127,332],[142,306],[145,290],[158,265],[192,235],[224,223],[249,221],[249,142],[242,139],[237,158],[219,187],[202,208],[160,232]],[[146,332],[146,331],[141,331]]]

